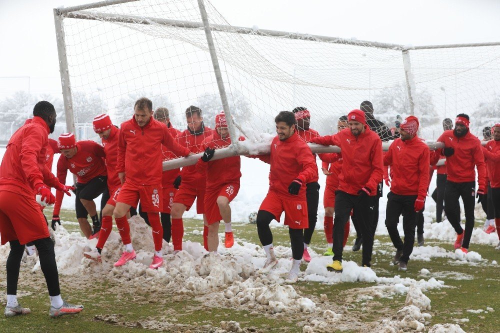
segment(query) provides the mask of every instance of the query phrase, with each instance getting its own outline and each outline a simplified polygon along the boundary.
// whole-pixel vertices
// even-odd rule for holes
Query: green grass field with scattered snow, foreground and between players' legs
[[[61,220],[76,221],[74,213],[62,211]],[[49,216],[49,212],[46,212]],[[66,229],[79,231],[76,223],[67,223]],[[184,240],[202,241],[202,236],[192,234],[194,229],[202,230],[199,220],[184,220]],[[253,224],[233,224],[237,241],[248,241],[259,244],[256,227]],[[222,230],[222,228],[221,228]],[[284,227],[276,227],[273,231],[274,245],[289,245],[288,231]],[[425,295],[431,299],[431,324],[456,323],[457,319],[468,319],[459,322],[466,332],[500,332],[500,269],[491,264],[491,260],[499,260],[500,255],[493,246],[473,245],[488,263],[456,264],[449,258],[432,258],[431,261],[410,260],[406,272],[397,271],[389,264],[392,257],[390,239],[386,236],[376,237],[379,242],[374,247],[372,269],[377,276],[411,277],[419,280],[428,279],[434,275],[449,286],[426,291]],[[349,237],[344,252],[344,260],[361,261],[361,252],[352,252],[350,245],[353,241]],[[451,243],[427,239],[426,245],[441,246],[452,249]],[[312,248],[318,253],[324,250],[323,232],[318,230],[312,238]],[[385,254],[381,254],[387,251]],[[306,264],[301,265],[305,270]],[[419,271],[426,268],[430,271],[425,277]],[[0,262],[0,285],[5,287],[5,262]],[[1,332],[40,331],[40,332],[128,332],[149,328],[164,331],[216,331],[216,327],[224,326],[222,321],[235,320],[239,322],[242,331],[262,332],[300,332],[302,331],[303,316],[293,317],[283,313],[255,313],[251,309],[240,310],[226,306],[204,304],[193,297],[179,295],[176,290],[154,288],[147,283],[143,286],[130,288],[126,283],[116,283],[106,278],[96,279],[94,275],[80,274],[79,276],[60,275],[61,290],[64,298],[70,302],[81,303],[84,310],[75,316],[66,316],[51,319],[48,316],[49,301],[45,282],[41,271],[30,273],[31,267],[21,265],[19,278],[18,299],[23,306],[31,308],[31,314],[12,318],[0,317]],[[450,273],[456,272],[456,273]],[[443,277],[444,274],[444,277]],[[458,276],[458,277],[457,277]],[[469,276],[469,278],[467,278]],[[461,277],[461,278],[460,278]],[[470,278],[472,277],[472,278]],[[404,306],[405,294],[395,295],[391,299],[374,297],[365,302],[352,302],[352,295],[358,288],[373,286],[374,283],[343,282],[339,284],[323,284],[317,282],[299,281],[294,288],[302,296],[313,295],[320,297],[326,294],[329,303],[338,311],[348,311],[351,317],[357,317],[362,322],[376,322],[383,318],[392,318],[397,310]],[[4,295],[1,298],[4,303]],[[471,313],[467,309],[486,309],[492,307],[494,311],[488,313]],[[373,326],[373,325],[372,325]],[[359,330],[352,330],[359,331]],[[361,331],[370,331],[361,330]]]

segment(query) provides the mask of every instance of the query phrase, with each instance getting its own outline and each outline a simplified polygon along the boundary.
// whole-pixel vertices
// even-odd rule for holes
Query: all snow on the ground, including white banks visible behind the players
[[[1,149],[3,155],[5,149]],[[54,161],[55,164],[58,155]],[[318,165],[320,162],[318,161]],[[268,183],[267,175],[269,165],[259,160],[241,157],[241,189],[236,199],[231,203],[232,216],[235,221],[247,222],[250,212],[258,210],[259,204],[265,196]],[[325,176],[320,173],[319,183],[324,186]],[[68,174],[66,183],[72,183],[72,175]],[[435,180],[431,182],[429,192],[434,189]],[[384,187],[384,193],[388,189]],[[320,191],[318,223],[316,227],[322,228],[324,210],[322,208],[322,191]],[[384,226],[386,197],[380,199],[380,218],[377,227],[377,235],[387,234]],[[64,208],[74,208],[74,198],[65,197]],[[193,205],[195,207],[195,205]],[[462,210],[463,211],[463,210]],[[429,198],[424,213],[424,231],[426,239],[436,238],[452,241],[455,233],[447,221],[443,223],[431,223],[435,212],[435,204]],[[187,212],[188,217],[198,216],[193,209]],[[95,246],[96,240],[87,240],[77,232],[68,232],[63,226],[56,230],[56,260],[60,274],[78,275],[81,273],[95,274],[110,280],[120,282],[127,281],[131,287],[151,283],[159,287],[172,287],[180,290],[182,294],[193,295],[206,303],[220,302],[223,306],[231,306],[255,313],[308,313],[304,319],[303,331],[331,331],[334,329],[353,329],[362,325],[360,322],[344,320],[345,313],[336,313],[331,310],[328,300],[324,297],[311,297],[302,295],[292,285],[284,284],[284,274],[289,270],[291,261],[291,250],[284,246],[275,246],[274,250],[279,262],[275,269],[269,274],[258,273],[265,260],[265,254],[259,245],[236,239],[231,249],[219,247],[217,255],[207,255],[201,244],[187,241],[184,243],[184,251],[173,254],[169,245],[164,242],[162,267],[157,270],[149,269],[148,265],[152,258],[152,237],[150,228],[138,217],[132,217],[130,222],[132,242],[137,251],[137,258],[128,262],[123,267],[113,267],[112,262],[119,257],[122,245],[119,236],[114,231],[102,252],[103,263],[97,264],[83,257],[83,251]],[[482,225],[482,220],[477,219]],[[277,224],[277,222],[273,222]],[[399,223],[400,232],[402,226]],[[351,228],[353,232],[354,228]],[[471,243],[496,244],[496,234],[486,234],[480,227],[476,227],[472,234]],[[379,241],[375,241],[375,251],[386,254],[386,251],[377,250]],[[221,244],[222,245],[222,244]],[[375,282],[375,285],[356,290],[353,302],[362,304],[373,297],[392,298],[395,295],[406,294],[405,306],[395,316],[382,320],[377,330],[399,331],[413,329],[429,332],[463,332],[457,324],[434,325],[429,327],[430,300],[423,292],[431,289],[446,288],[439,277],[445,277],[446,272],[430,273],[427,269],[420,271],[420,280],[408,277],[378,276],[375,271],[368,267],[359,267],[353,261],[344,261],[344,270],[341,274],[329,272],[325,269],[326,262],[330,257],[318,255],[314,249],[310,249],[311,262],[305,271],[300,272],[299,280],[318,281],[328,284],[366,281]],[[4,261],[8,254],[8,244],[0,247],[0,261]],[[481,258],[480,254],[471,251],[467,255],[447,251],[440,246],[426,245],[415,247],[411,254],[411,260],[428,261],[432,257],[446,257],[453,264],[493,264]],[[33,257],[27,260],[33,261],[33,271],[39,270],[39,262]],[[390,275],[390,274],[389,274]],[[469,278],[469,276],[456,276],[456,278]],[[147,281],[147,282],[146,282]],[[221,291],[222,290],[222,291]],[[357,319],[358,320],[358,319]]]

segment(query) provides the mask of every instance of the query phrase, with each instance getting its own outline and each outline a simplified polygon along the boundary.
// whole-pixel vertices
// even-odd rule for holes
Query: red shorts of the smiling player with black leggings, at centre
[[[269,191],[258,209],[270,212],[278,222],[281,213],[284,211],[284,225],[288,225],[292,229],[309,227],[306,200],[284,199]]]

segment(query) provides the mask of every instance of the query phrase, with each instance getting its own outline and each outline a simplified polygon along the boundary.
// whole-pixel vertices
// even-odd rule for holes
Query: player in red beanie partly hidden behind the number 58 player
[[[109,191],[109,199],[101,210],[102,225],[99,231],[99,240],[95,249],[83,252],[83,255],[89,259],[101,262],[100,252],[106,243],[111,229],[113,227],[113,210],[116,205],[116,198],[120,191],[121,182],[116,171],[116,163],[118,156],[118,137],[120,130],[112,124],[109,115],[99,114],[92,121],[93,130],[99,135],[102,140],[102,146],[105,154],[105,165],[107,172],[107,189]]]

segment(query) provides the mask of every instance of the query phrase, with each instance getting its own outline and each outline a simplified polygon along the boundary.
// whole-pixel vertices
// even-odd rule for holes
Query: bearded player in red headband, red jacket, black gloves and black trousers
[[[486,167],[481,142],[470,133],[469,117],[464,113],[456,116],[455,128],[445,130],[437,138],[437,142],[444,143],[444,148],[437,149],[437,151],[446,156],[448,172],[444,190],[444,211],[456,231],[455,249],[460,248],[467,253],[474,228],[474,195],[480,200],[486,191]],[[477,192],[474,166],[477,167]],[[458,204],[460,196],[465,210],[465,231],[460,225]]]

